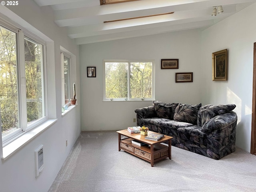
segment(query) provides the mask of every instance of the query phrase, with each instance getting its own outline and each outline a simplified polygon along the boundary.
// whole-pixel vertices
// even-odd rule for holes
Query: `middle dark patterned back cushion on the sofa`
[[[201,106],[201,103],[198,105],[178,104],[174,112],[174,120],[196,125],[198,110]]]

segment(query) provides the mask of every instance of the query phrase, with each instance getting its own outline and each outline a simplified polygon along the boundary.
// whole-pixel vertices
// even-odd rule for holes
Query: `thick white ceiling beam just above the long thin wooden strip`
[[[241,1],[241,0],[240,0]],[[235,5],[230,5],[235,6]],[[225,6],[227,9],[229,6]],[[126,10],[124,8],[116,8],[110,7],[106,8],[105,6],[94,6],[94,7],[83,7],[83,8],[76,8],[76,9],[68,9],[68,10],[56,10],[54,11],[54,20],[59,26],[77,26],[77,25],[84,25],[84,24],[93,24],[93,23],[101,23],[106,20],[119,20],[124,18],[131,18],[131,17],[141,17],[154,14],[161,14],[167,12],[179,12],[179,11],[190,11],[196,10],[200,12],[202,9],[212,9],[212,6],[203,6],[202,4],[198,3],[189,3],[186,5],[173,5],[173,6],[165,6],[165,7],[158,7],[158,8],[150,8],[143,10]],[[212,10],[210,10],[211,12]],[[184,12],[185,13],[185,12]],[[209,13],[210,14],[210,13]],[[94,15],[92,17],[92,15]]]

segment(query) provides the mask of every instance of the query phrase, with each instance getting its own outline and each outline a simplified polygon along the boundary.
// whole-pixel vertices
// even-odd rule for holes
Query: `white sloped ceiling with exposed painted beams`
[[[100,0],[34,0],[39,6],[51,6],[54,21],[68,30],[76,44],[161,34],[177,30],[207,28],[256,0],[138,0],[100,6]],[[224,12],[212,16],[214,6]],[[161,16],[118,22],[124,18],[174,12]]]

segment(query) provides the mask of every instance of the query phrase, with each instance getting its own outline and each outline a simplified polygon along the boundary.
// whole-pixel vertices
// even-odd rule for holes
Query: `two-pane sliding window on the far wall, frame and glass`
[[[104,100],[153,100],[154,61],[104,60]]]

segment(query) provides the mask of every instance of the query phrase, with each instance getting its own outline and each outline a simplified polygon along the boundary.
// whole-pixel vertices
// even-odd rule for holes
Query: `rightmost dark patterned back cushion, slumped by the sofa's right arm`
[[[228,113],[234,110],[234,108],[236,108],[235,104],[202,106],[198,111],[197,125],[202,127],[211,118],[220,114]]]

